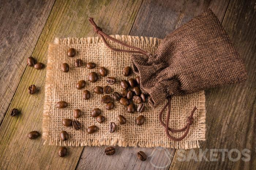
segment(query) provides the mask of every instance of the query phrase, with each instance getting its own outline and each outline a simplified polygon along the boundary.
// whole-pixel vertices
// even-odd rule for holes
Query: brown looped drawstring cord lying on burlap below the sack
[[[167,137],[169,139],[171,139],[173,141],[181,141],[188,134],[190,126],[192,125],[193,120],[194,120],[193,119],[193,114],[197,110],[197,108],[194,107],[193,110],[191,111],[191,114],[188,116],[187,124],[186,124],[185,127],[181,128],[181,129],[171,129],[171,128],[169,128],[169,119],[170,119],[170,113],[171,113],[171,100],[172,100],[172,97],[169,97],[167,99],[168,99],[168,102],[165,104],[165,106],[163,107],[163,109],[159,113],[159,122],[162,124],[163,127],[165,127],[165,133],[166,133],[166,135],[167,135]],[[166,124],[164,124],[163,120],[162,120],[162,114],[165,111],[167,106],[168,106],[168,113],[167,113],[167,116],[166,116]],[[170,135],[169,131],[172,132],[172,133],[177,133],[177,132],[185,131],[185,133],[180,138],[175,138],[175,137]]]

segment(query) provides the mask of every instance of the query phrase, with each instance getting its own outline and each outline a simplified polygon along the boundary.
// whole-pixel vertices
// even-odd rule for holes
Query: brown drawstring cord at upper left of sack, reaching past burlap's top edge
[[[115,38],[113,38],[113,37],[110,37],[110,36],[107,35],[106,33],[102,32],[102,29],[101,29],[100,27],[98,27],[98,26],[95,24],[93,18],[90,18],[89,21],[90,21],[90,23],[93,25],[93,31],[96,32],[96,33],[98,33],[98,34],[102,37],[103,42],[104,42],[104,43],[106,44],[106,46],[107,46],[108,48],[110,48],[111,50],[117,51],[117,52],[138,53],[138,54],[143,54],[143,55],[149,56],[149,54],[148,54],[147,51],[144,51],[144,50],[142,50],[142,49],[140,49],[140,48],[138,48],[138,47],[129,46],[128,44],[125,44],[125,43],[123,43],[122,41],[119,41],[119,40],[117,40],[117,39],[115,39]],[[125,47],[131,48],[131,49],[133,49],[133,50],[135,50],[135,51],[133,51],[133,50],[121,50],[121,49],[117,49],[117,48],[110,47],[109,44],[107,43],[107,41],[105,40],[105,37],[108,38],[108,39],[110,39],[110,40],[112,40],[112,41],[114,41],[114,42],[116,42],[116,43],[118,43],[118,44],[121,44],[121,45],[123,45],[123,46],[125,46]]]

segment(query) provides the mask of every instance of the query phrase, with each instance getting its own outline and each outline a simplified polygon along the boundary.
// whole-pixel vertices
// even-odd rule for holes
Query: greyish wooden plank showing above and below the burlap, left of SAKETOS
[[[207,8],[212,8],[214,12],[216,9],[217,12],[215,13],[222,19],[228,1],[223,1],[224,5],[222,8],[217,8],[217,6],[213,5],[218,3],[219,1],[143,1],[130,35],[163,38],[166,34],[180,27],[180,25]],[[115,32],[110,33],[115,34]],[[105,147],[85,147],[77,168],[169,169],[175,152],[175,149],[161,147],[116,147],[117,153],[112,156],[107,156],[104,154],[104,150]],[[136,154],[140,150],[148,155],[147,161],[142,162],[137,159]]]

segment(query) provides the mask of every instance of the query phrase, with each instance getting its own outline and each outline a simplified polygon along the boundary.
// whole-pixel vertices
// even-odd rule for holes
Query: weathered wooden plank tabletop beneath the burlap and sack
[[[34,56],[46,63],[48,44],[54,37],[95,36],[88,22],[94,17],[108,34],[163,38],[192,17],[211,8],[222,22],[245,62],[248,79],[206,91],[206,141],[202,149],[116,147],[113,156],[105,147],[70,147],[57,156],[58,146],[28,140],[29,131],[42,131],[46,69],[27,67]],[[256,13],[254,0],[1,0],[0,1],[0,169],[253,169],[256,166]],[[40,87],[37,97],[27,87]],[[22,111],[11,117],[12,108]],[[249,161],[231,161],[221,152],[217,161],[180,160],[207,149],[249,150]],[[142,150],[145,162],[136,158]],[[231,154],[237,157],[236,152]],[[194,158],[194,157],[192,157]]]

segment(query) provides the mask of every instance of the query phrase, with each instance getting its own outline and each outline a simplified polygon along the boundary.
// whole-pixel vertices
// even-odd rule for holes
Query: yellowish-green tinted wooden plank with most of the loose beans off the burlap
[[[57,0],[32,55],[38,62],[46,63],[48,44],[54,37],[92,36],[89,16],[105,25],[107,33],[112,30],[118,34],[129,32],[140,4],[141,1]],[[60,158],[57,156],[59,147],[43,146],[41,138],[30,140],[26,136],[32,130],[42,132],[45,74],[46,69],[35,70],[31,67],[27,67],[23,74],[8,114],[0,126],[1,169],[74,169],[77,165],[83,147],[69,148],[69,155]],[[39,87],[38,93],[27,93],[31,84]],[[9,112],[14,107],[19,108],[21,114],[11,117]]]

